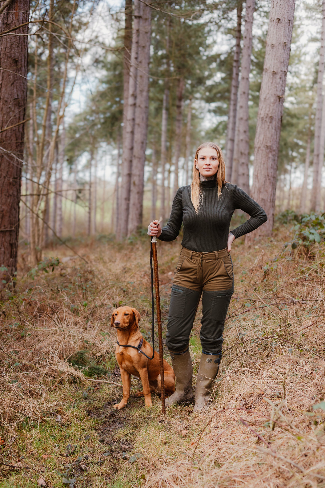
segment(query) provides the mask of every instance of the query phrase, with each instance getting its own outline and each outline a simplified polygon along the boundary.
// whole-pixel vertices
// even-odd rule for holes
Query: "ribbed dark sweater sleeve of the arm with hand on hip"
[[[257,229],[257,227],[264,224],[264,222],[268,220],[268,216],[263,208],[256,203],[255,200],[250,198],[244,190],[238,188],[236,185],[234,185],[232,201],[235,208],[240,208],[250,215],[250,219],[248,221],[231,231],[236,239],[237,237],[243,236],[244,234],[248,234],[252,230]]]

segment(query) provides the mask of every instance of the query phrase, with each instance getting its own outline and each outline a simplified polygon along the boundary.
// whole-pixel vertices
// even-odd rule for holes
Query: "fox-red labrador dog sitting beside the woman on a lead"
[[[138,325],[140,318],[139,312],[130,306],[120,306],[112,314],[111,325],[117,330],[117,342],[120,344],[116,344],[115,353],[123,384],[123,398],[119,404],[114,405],[117,410],[128,403],[132,374],[141,379],[143,391],[135,396],[144,396],[146,407],[153,405],[151,392],[161,393],[159,354],[155,351],[153,356],[153,348],[143,339]],[[150,358],[153,356],[153,359],[146,358],[139,349]],[[165,360],[164,378],[165,396],[168,397],[175,391],[175,375],[172,366]]]

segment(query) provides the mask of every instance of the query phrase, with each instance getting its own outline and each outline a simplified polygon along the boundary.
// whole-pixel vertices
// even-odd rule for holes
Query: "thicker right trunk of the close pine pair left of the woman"
[[[141,5],[128,236],[133,234],[142,225],[144,165],[149,115],[150,3],[151,0],[148,0]]]

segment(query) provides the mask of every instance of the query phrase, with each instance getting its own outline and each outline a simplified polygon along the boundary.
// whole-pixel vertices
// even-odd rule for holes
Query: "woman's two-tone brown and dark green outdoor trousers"
[[[182,248],[175,269],[166,345],[172,353],[189,346],[191,329],[202,295],[200,339],[205,354],[218,354],[233,293],[233,267],[227,249],[195,252]]]

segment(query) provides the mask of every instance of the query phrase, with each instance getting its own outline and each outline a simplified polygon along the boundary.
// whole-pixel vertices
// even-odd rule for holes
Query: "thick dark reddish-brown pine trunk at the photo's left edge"
[[[27,100],[29,0],[14,0],[0,14],[0,288],[15,279],[19,234],[21,166]]]

